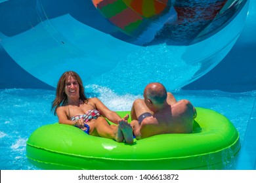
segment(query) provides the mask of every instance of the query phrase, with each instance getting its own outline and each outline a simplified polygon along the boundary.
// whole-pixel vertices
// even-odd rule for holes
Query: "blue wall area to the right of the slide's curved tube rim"
[[[256,90],[256,0],[249,1],[244,29],[226,57],[213,70],[188,84],[188,90]]]

